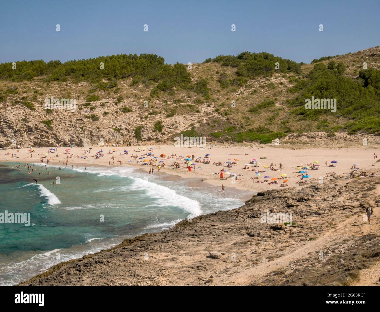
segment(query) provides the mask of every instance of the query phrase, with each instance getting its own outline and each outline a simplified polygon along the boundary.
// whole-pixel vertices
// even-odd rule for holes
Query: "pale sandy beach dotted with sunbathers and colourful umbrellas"
[[[318,170],[304,170],[310,176],[310,178],[304,179],[307,180],[306,185],[318,183],[320,177],[323,177],[323,180],[328,180],[332,174],[349,177],[350,168],[353,164],[358,164],[357,167],[360,169],[355,172],[355,175],[358,175],[361,171],[371,174],[380,166],[380,164],[375,164],[378,159],[374,158],[374,154],[379,153],[378,149],[367,146],[355,148],[300,147],[296,149],[289,148],[289,146],[220,145],[203,150],[199,148],[174,147],[172,145],[93,146],[91,150],[89,148],[73,147],[68,151],[65,151],[69,149],[67,147],[59,147],[58,151],[54,153],[49,152],[51,148],[55,149],[55,147],[33,148],[32,152],[30,152],[29,148],[3,150],[0,151],[0,160],[2,162],[39,163],[41,157],[43,157],[44,164],[49,159],[49,164],[51,165],[66,167],[65,162],[68,160],[67,167],[76,167],[78,165],[79,168],[83,169],[85,166],[108,166],[109,162],[111,162],[111,167],[116,167],[120,166],[120,162],[118,161],[121,160],[121,166],[131,166],[146,170],[147,174],[151,168],[154,168],[154,174],[159,174],[158,166],[165,163],[165,167],[161,168],[160,172],[177,175],[181,178],[199,178],[199,184],[197,183],[194,186],[201,186],[202,183],[207,182],[211,185],[224,185],[225,188],[234,187],[252,192],[279,189],[280,184],[284,180],[288,180],[286,182],[288,186],[285,188],[300,188],[301,186],[297,182],[300,181],[301,174],[299,171],[302,169],[299,168],[305,167],[307,164],[317,165]],[[153,149],[150,151],[152,155],[147,156],[150,148]],[[85,150],[90,151],[90,153],[85,155]],[[124,154],[124,150],[127,150],[128,154]],[[103,156],[95,159],[98,151],[103,151]],[[12,158],[12,153],[16,153],[16,157]],[[166,157],[160,157],[161,154],[165,154]],[[209,158],[205,158],[206,154],[209,154]],[[177,160],[175,155],[177,156]],[[195,159],[199,158],[201,162],[186,161],[187,155],[194,155]],[[83,158],[85,156],[87,156],[87,159]],[[114,157],[114,164],[112,164],[112,156]],[[135,158],[135,156],[138,157]],[[266,157],[266,159],[260,159],[260,157]],[[142,159],[138,163],[139,158]],[[148,160],[146,162],[147,165],[142,166],[145,163],[143,161],[146,159]],[[210,159],[209,164],[204,163],[207,159]],[[256,164],[249,164],[253,159],[256,160]],[[230,165],[231,167],[227,167],[228,164],[226,162],[228,161],[233,163]],[[329,167],[331,161],[337,161],[337,163],[333,164],[334,167]],[[179,169],[169,166],[176,162],[179,163]],[[191,166],[192,171],[187,171],[188,162],[195,164],[195,170]],[[221,162],[222,165],[215,165],[215,162]],[[327,166],[325,162],[327,162]],[[274,170],[271,170],[271,164],[273,164],[272,169]],[[279,167],[280,164],[282,164],[282,169]],[[243,169],[244,167],[248,167],[249,169]],[[226,170],[225,172],[236,174],[237,179],[232,179],[226,174],[224,175],[224,179],[221,179],[220,170],[222,169]],[[260,174],[259,177],[256,172]],[[264,178],[266,176],[269,178]],[[256,177],[258,179],[251,179]],[[278,184],[269,185],[268,183],[272,182],[272,178],[277,178]],[[257,183],[258,181],[266,182]]]

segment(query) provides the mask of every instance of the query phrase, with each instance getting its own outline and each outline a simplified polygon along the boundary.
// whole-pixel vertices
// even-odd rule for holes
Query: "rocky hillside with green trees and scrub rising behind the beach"
[[[261,143],[313,131],[378,135],[379,68],[379,47],[312,64],[265,52],[191,65],[155,54],[0,64],[0,145],[13,137],[38,145],[76,136],[80,145],[170,142],[180,133]],[[52,96],[76,99],[76,111],[46,110]],[[336,99],[336,111],[306,109],[312,97]]]

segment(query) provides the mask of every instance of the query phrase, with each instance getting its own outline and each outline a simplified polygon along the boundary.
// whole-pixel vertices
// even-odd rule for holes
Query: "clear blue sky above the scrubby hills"
[[[243,51],[309,63],[380,45],[380,0],[12,0],[0,8],[0,63],[154,53],[174,64]]]

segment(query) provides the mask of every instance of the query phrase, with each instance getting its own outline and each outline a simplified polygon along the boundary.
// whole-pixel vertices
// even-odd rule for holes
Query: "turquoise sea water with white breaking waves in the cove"
[[[30,213],[30,226],[0,223],[0,285],[14,285],[54,264],[170,228],[184,218],[239,207],[249,194],[192,188],[193,179],[168,181],[168,175],[128,167],[59,170],[30,164],[37,170],[28,174],[24,163],[20,172],[18,165],[0,164],[0,213]],[[53,185],[57,177],[60,184]]]

